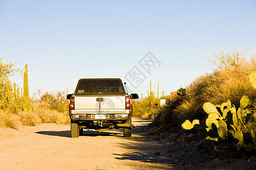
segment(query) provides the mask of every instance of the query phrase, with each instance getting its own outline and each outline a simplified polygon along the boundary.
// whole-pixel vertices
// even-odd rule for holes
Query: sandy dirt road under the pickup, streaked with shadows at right
[[[133,118],[131,138],[122,130],[71,138],[69,125],[56,124],[0,129],[0,169],[171,169],[164,147],[143,135],[149,123]]]

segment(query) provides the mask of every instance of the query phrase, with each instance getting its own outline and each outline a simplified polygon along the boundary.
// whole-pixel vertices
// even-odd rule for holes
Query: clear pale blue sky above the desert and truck
[[[28,64],[30,95],[72,93],[87,76],[120,76],[139,96],[152,80],[170,95],[212,72],[213,50],[256,49],[256,1],[0,0],[0,23],[0,57]],[[139,65],[148,52],[160,62],[151,74]],[[147,77],[137,88],[126,80],[134,66]]]

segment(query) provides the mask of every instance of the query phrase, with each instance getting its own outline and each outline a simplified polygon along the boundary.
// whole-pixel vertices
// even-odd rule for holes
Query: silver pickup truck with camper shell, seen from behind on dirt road
[[[131,99],[138,95],[129,95],[125,84],[117,77],[80,78],[73,94],[67,95],[71,137],[79,137],[84,129],[123,129],[123,136],[131,137]]]

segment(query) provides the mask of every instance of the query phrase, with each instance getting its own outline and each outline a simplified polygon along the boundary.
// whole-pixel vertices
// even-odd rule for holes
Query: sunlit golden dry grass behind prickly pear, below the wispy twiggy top
[[[229,69],[202,75],[188,86],[187,95],[201,104],[207,101],[221,104],[229,99],[239,106],[243,95],[255,100],[256,90],[249,81],[249,74],[256,70],[255,63],[256,58],[253,56],[250,61],[243,59],[236,67],[230,66]]]

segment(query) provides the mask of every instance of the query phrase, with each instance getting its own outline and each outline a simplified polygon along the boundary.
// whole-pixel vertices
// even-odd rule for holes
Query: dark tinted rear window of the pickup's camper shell
[[[80,79],[75,95],[123,96],[125,90],[120,79]],[[101,95],[101,94],[100,94]]]

